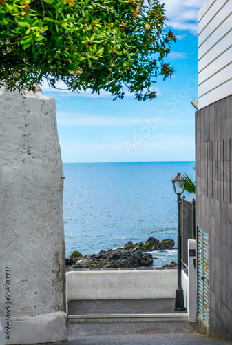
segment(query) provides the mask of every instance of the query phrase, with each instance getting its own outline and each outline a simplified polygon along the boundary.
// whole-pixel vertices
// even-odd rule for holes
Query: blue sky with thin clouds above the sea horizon
[[[178,40],[167,59],[174,75],[154,84],[157,99],[138,102],[127,95],[113,101],[104,91],[98,96],[43,87],[56,99],[63,162],[195,160],[190,101],[198,94],[197,14],[204,0],[164,2]]]

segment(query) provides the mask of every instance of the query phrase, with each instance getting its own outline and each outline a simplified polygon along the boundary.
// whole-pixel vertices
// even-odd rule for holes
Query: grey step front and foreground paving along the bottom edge
[[[165,333],[162,333],[165,332]],[[200,335],[189,322],[81,322],[69,324],[67,342],[56,345],[226,345]],[[51,344],[45,344],[51,345]]]

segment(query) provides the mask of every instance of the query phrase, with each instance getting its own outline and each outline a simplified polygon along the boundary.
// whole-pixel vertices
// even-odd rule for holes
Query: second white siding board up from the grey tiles
[[[232,64],[218,72],[216,75],[213,75],[213,77],[207,79],[207,81],[204,81],[204,83],[202,83],[201,85],[199,85],[198,97],[201,97],[210,90],[217,88],[220,84],[225,83],[230,78],[232,78]]]

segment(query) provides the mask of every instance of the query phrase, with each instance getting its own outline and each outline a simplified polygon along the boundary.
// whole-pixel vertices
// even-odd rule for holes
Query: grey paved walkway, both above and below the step
[[[69,313],[176,313],[174,299],[98,300],[69,302]],[[178,313],[183,313],[182,311]],[[186,313],[186,311],[184,311]],[[232,342],[196,333],[191,322],[69,322],[68,341],[56,345],[226,345]],[[45,344],[50,345],[50,344]]]

